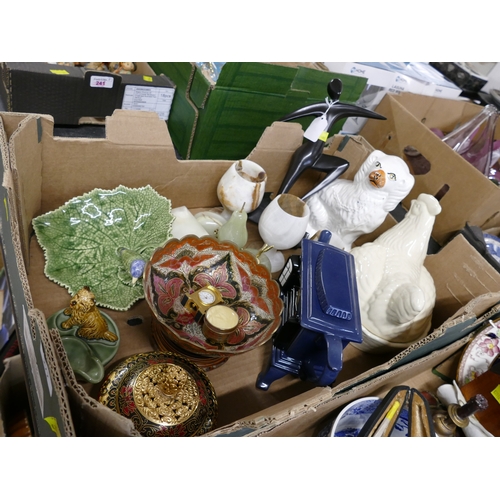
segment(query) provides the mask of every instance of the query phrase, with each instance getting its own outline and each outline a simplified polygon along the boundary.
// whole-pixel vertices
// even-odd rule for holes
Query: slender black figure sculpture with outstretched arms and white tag
[[[292,113],[281,118],[279,121],[287,122],[291,120],[296,120],[298,118],[304,118],[306,116],[316,116],[322,117],[322,128],[323,134],[319,135],[318,139],[311,141],[306,138],[305,142],[297,148],[294,152],[292,159],[290,161],[290,166],[288,167],[287,173],[281,186],[276,193],[287,193],[300,175],[308,168],[313,168],[314,170],[319,170],[327,172],[328,175],[323,179],[323,181],[318,184],[312,191],[307,193],[303,199],[308,198],[313,193],[319,191],[326,185],[333,182],[337,177],[342,175],[342,173],[349,166],[349,162],[339,158],[337,156],[324,155],[323,149],[326,145],[326,139],[332,126],[341,120],[342,118],[348,118],[351,116],[363,117],[363,118],[374,118],[376,120],[385,120],[386,118],[374,111],[356,106],[353,104],[346,104],[339,101],[340,95],[342,94],[342,81],[338,78],[331,80],[327,86],[329,98],[325,99],[325,102],[319,102],[316,104],[310,104],[300,108]],[[267,207],[271,201],[271,193],[266,193],[264,199],[260,206],[251,212],[248,216],[249,220],[258,223],[260,215]]]

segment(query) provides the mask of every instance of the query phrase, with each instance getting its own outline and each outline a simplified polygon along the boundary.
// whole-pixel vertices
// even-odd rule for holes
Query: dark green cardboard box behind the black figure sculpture
[[[333,78],[342,79],[341,100],[351,104],[366,84],[366,78],[331,73],[314,63],[228,62],[217,82],[209,81],[195,63],[148,64],[177,87],[168,126],[184,159],[245,158],[266,127],[303,106],[324,101]],[[296,122],[305,129],[311,120]]]

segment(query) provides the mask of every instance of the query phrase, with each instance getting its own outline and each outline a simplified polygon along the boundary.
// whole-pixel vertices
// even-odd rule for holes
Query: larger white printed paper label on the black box
[[[127,85],[123,94],[122,109],[154,111],[160,119],[168,120],[175,89]]]

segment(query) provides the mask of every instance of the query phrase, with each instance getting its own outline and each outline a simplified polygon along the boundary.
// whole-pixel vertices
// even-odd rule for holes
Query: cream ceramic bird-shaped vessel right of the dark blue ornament
[[[401,222],[351,250],[364,334],[393,343],[415,342],[427,334],[436,290],[424,260],[440,212],[436,198],[420,194]]]

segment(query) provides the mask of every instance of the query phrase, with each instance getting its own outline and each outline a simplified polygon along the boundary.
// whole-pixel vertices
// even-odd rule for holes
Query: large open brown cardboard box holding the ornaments
[[[49,116],[2,113],[0,118],[1,189],[5,200],[0,207],[0,237],[15,297],[20,349],[28,367],[27,387],[35,432],[41,436],[137,435],[128,419],[97,402],[99,386],[75,380],[59,334],[48,329],[46,318],[67,306],[69,294],[44,275],[44,255],[36,238],[31,237],[31,220],[74,196],[97,187],[113,189],[119,184],[129,187],[149,184],[170,198],[173,207],[186,205],[197,210],[218,206],[216,185],[232,162],[178,160],[165,121],[154,113],[116,110],[106,120],[104,140],[54,137],[53,120]],[[355,170],[370,148],[361,138],[341,137],[338,141],[338,147],[332,141],[327,154],[343,156]],[[300,144],[300,125],[277,122],[265,130],[249,155],[266,170],[270,191],[279,188],[291,156]],[[298,195],[307,193],[320,175],[308,172],[296,183],[294,191]],[[250,246],[258,248],[261,241],[257,228],[249,224]],[[499,300],[496,292],[500,289],[500,275],[463,237],[455,238],[441,252],[430,255],[426,266],[436,282],[438,295],[433,333],[395,356],[374,356],[347,346],[335,386],[347,389],[364,383],[367,377],[390,377],[393,367],[406,363],[416,369],[413,363],[418,363],[421,356],[432,355],[435,349],[447,348],[467,335],[477,317]],[[474,303],[463,309],[476,297],[481,299],[480,305]],[[107,369],[132,354],[154,350],[151,313],[144,300],[128,311],[109,311],[109,315],[118,325],[121,342]],[[136,326],[128,324],[128,319],[137,317],[144,321]],[[445,322],[445,327],[441,327]],[[257,375],[270,351],[268,342],[208,372],[219,403],[215,433],[225,426],[239,425],[250,415],[253,420],[266,423],[268,415],[285,412],[283,418],[293,421],[298,406],[307,406],[311,400],[320,405],[324,395],[335,390],[312,387],[291,375],[277,380],[269,391],[256,389]],[[309,414],[309,418],[314,420],[314,415]],[[276,435],[280,435],[280,419],[275,420]],[[307,429],[311,428],[311,421],[305,426]]]

